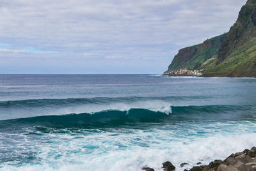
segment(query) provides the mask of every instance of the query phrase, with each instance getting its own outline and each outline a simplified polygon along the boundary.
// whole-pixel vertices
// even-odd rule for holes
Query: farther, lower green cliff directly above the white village
[[[186,47],[179,50],[179,53],[174,57],[168,71],[177,71],[180,68],[188,70],[198,70],[208,59],[215,59],[218,56],[218,51],[225,36],[220,36],[205,40],[204,43],[193,47]]]

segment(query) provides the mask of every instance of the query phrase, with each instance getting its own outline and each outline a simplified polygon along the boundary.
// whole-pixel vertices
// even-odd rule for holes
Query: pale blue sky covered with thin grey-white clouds
[[[0,0],[0,73],[163,73],[246,0]]]

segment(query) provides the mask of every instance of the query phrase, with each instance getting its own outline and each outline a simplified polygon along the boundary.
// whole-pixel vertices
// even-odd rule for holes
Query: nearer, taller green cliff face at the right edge
[[[256,0],[241,8],[205,77],[256,77]]]

